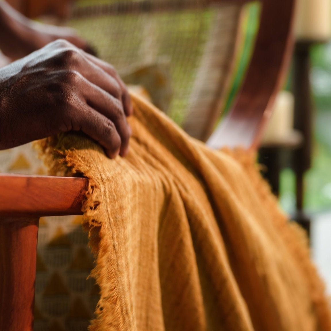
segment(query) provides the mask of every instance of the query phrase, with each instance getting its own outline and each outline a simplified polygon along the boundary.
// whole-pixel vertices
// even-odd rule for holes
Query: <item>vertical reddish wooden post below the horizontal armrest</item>
[[[39,218],[0,219],[0,330],[32,331]]]

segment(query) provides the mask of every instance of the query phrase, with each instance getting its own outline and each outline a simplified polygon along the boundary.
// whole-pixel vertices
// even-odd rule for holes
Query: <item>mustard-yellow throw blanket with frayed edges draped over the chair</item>
[[[305,236],[254,155],[212,151],[132,99],[126,158],[79,134],[44,142],[53,173],[90,179],[83,225],[101,288],[90,330],[330,331]]]

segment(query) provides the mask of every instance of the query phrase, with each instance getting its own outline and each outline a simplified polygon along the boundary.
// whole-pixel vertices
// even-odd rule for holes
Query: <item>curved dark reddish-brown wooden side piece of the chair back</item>
[[[239,95],[208,145],[256,149],[292,56],[295,0],[263,0],[254,53]]]

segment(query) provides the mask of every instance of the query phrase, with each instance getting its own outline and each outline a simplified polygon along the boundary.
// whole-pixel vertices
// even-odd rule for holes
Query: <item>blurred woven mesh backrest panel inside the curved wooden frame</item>
[[[231,1],[78,2],[65,24],[126,83],[144,85],[157,107],[206,140],[234,67],[242,9]]]

